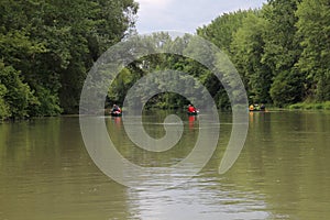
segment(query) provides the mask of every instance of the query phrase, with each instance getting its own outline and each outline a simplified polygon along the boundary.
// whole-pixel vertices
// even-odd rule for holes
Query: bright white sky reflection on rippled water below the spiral
[[[265,201],[258,194],[219,186],[221,179],[194,179],[164,191],[130,193],[138,219],[266,219]]]

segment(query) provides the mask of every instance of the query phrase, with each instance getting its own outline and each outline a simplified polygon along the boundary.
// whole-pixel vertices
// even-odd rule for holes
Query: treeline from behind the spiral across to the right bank
[[[257,10],[220,15],[209,25],[197,29],[197,34],[230,57],[250,102],[286,107],[330,100],[329,0],[271,0]],[[166,34],[158,34],[150,38],[153,42],[150,44],[156,47],[157,42],[162,42],[161,46],[179,48],[187,42],[185,37],[170,40]],[[136,77],[166,68],[197,77],[219,108],[230,107],[220,81],[208,69],[197,62],[164,54],[144,57],[143,62],[131,65],[111,87],[109,98],[122,102],[124,91]],[[188,100],[178,95],[164,94],[154,97],[147,106],[182,108],[187,103]]]

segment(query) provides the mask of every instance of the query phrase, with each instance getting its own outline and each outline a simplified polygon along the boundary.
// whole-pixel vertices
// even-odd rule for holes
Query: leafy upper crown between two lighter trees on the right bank
[[[301,53],[295,26],[299,1],[272,0],[262,11],[262,16],[268,22],[262,61],[271,67],[274,76],[294,67]]]

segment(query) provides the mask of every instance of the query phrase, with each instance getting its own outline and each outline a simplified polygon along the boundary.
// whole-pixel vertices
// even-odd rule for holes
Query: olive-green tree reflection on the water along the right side
[[[241,155],[230,178],[242,188],[264,195],[273,218],[327,218],[329,117],[304,112],[251,117],[245,156]]]

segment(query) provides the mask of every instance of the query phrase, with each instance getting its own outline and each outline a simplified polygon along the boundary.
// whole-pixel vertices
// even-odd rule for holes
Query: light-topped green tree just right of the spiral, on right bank
[[[264,35],[267,21],[257,13],[250,13],[235,34],[231,44],[233,62],[241,74],[251,102],[272,102],[270,89],[272,72],[262,64]]]

